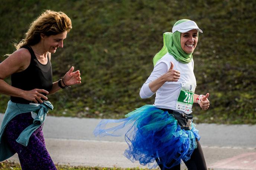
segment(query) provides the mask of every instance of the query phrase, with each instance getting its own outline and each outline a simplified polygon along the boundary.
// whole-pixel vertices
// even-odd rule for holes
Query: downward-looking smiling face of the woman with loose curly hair
[[[58,47],[63,48],[63,40],[67,37],[67,31],[57,35],[45,36],[42,35],[44,40],[44,49],[50,53],[55,53]]]

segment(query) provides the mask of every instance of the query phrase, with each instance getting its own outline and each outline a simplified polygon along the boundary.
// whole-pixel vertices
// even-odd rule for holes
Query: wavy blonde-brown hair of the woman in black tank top
[[[25,45],[35,45],[40,42],[41,33],[50,36],[64,31],[70,32],[71,29],[71,20],[65,13],[46,10],[30,24],[25,38],[14,46],[18,50]]]

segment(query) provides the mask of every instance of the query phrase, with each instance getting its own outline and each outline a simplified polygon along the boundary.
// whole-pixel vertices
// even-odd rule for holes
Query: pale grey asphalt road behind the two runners
[[[3,114],[0,114],[0,122]],[[47,149],[55,164],[142,167],[122,156],[124,137],[95,137],[99,119],[51,117],[44,124]],[[256,170],[256,125],[197,124],[207,167],[214,170]],[[10,160],[18,161],[17,155]],[[186,166],[182,164],[182,168]]]

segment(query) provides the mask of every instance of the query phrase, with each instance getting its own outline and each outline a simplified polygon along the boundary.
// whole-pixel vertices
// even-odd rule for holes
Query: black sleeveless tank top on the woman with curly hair
[[[52,89],[52,66],[47,55],[47,64],[41,64],[35,56],[30,46],[23,46],[28,49],[31,55],[31,60],[28,68],[22,72],[16,72],[11,75],[12,86],[22,90],[45,89],[50,91]],[[46,94],[42,93],[46,96]],[[20,97],[11,96],[11,101],[15,103],[29,104],[31,101]]]

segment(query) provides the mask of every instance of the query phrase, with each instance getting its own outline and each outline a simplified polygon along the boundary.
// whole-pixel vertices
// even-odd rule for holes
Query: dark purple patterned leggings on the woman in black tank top
[[[27,147],[16,142],[20,133],[32,123],[31,112],[17,115],[8,123],[4,132],[4,139],[7,140],[9,146],[18,154],[22,170],[56,170],[45,148],[42,132],[43,125],[31,135]]]

